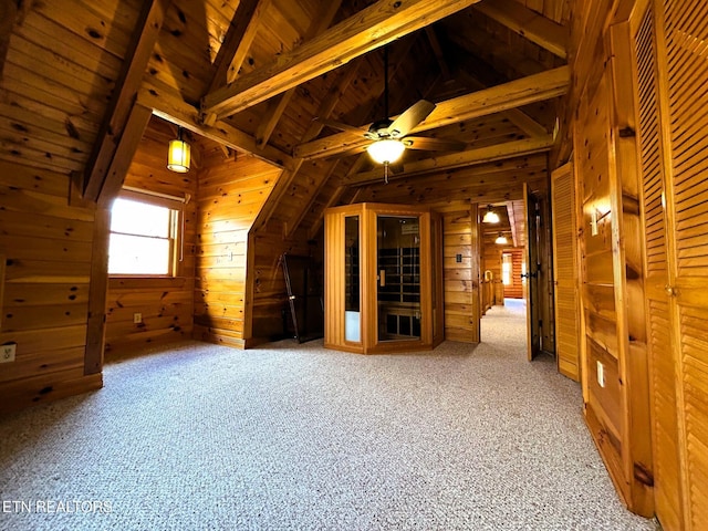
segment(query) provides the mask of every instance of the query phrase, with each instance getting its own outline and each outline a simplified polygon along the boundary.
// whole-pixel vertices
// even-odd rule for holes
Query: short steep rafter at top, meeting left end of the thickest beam
[[[261,17],[270,2],[271,0],[241,0],[239,2],[214,61],[214,76],[207,92],[233,81],[253,42]]]

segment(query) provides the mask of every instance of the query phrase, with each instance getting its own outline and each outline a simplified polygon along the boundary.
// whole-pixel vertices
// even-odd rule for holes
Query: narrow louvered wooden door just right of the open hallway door
[[[558,369],[580,382],[580,293],[575,177],[566,164],[551,175],[553,284]]]

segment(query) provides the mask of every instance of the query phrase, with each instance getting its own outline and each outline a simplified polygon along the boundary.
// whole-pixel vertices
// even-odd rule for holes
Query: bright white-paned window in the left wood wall
[[[175,275],[180,214],[177,200],[123,192],[111,208],[108,274]]]

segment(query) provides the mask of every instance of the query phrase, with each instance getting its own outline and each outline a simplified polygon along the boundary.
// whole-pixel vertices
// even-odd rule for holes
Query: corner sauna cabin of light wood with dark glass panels
[[[324,212],[324,346],[362,354],[442,341],[442,225],[425,207],[354,204]]]

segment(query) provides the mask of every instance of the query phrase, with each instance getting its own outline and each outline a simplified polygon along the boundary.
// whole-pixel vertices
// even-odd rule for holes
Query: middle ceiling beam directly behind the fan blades
[[[412,133],[421,133],[466,119],[516,108],[533,102],[565,94],[570,83],[568,66],[541,72],[482,91],[454,97],[437,104],[435,111]],[[361,128],[367,129],[371,124]],[[353,132],[337,133],[300,144],[293,149],[295,158],[321,158],[361,148],[371,140]]]

